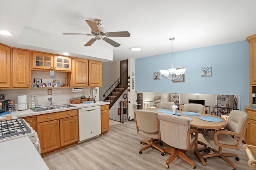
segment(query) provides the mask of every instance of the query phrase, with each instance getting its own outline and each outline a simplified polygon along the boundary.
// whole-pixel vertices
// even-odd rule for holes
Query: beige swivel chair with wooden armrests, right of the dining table
[[[231,162],[231,160],[229,160],[226,156],[235,156],[236,160],[238,161],[238,155],[234,153],[223,153],[222,147],[239,150],[244,139],[244,134],[246,132],[248,122],[249,117],[246,112],[240,110],[232,110],[229,113],[225,130],[218,130],[215,132],[204,131],[204,139],[211,145],[216,145],[217,147],[219,147],[219,149],[216,150],[208,146],[208,148],[212,150],[214,153],[204,154],[203,158],[218,156],[224,159],[234,169],[236,169],[236,165],[233,162]]]

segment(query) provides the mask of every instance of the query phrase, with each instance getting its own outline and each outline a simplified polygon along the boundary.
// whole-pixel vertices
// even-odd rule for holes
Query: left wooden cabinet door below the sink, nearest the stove
[[[37,123],[41,154],[60,147],[59,120]]]

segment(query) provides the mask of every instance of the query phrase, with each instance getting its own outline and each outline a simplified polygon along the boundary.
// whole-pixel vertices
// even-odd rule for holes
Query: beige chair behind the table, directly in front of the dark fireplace
[[[195,113],[205,113],[205,107],[202,104],[188,103],[188,104],[183,105],[183,111],[190,111],[190,112],[195,112]],[[203,131],[204,131],[204,129],[198,129],[198,133],[203,133]],[[208,150],[208,152],[210,152],[210,150],[207,147],[207,144],[205,144],[201,141],[197,141],[197,143],[204,146],[202,148],[198,148],[199,152],[204,151],[204,150]]]

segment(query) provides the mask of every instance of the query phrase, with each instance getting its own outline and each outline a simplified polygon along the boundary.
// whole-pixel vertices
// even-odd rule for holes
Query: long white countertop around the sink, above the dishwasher
[[[16,119],[19,117],[26,117],[26,116],[34,116],[34,115],[41,115],[41,114],[46,114],[46,113],[54,113],[58,111],[66,111],[66,110],[73,110],[73,109],[80,109],[84,107],[92,107],[92,106],[101,106],[105,104],[110,104],[110,102],[96,102],[96,103],[89,103],[89,104],[70,104],[72,106],[76,107],[68,107],[68,108],[63,108],[63,109],[52,109],[52,110],[46,110],[46,111],[38,111],[34,112],[30,109],[26,109],[23,111],[14,111],[10,114],[4,115],[4,116],[12,116],[12,119]]]

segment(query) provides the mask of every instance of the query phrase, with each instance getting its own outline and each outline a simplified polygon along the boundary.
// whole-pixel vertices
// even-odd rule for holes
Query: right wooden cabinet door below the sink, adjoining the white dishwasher
[[[78,142],[78,117],[60,119],[60,146]]]

